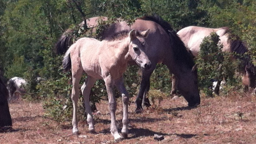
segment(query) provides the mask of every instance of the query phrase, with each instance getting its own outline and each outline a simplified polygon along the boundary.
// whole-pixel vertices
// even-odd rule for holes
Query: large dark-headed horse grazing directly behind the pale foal
[[[91,21],[89,20],[87,25],[89,25],[90,22]],[[95,21],[92,22],[95,24]],[[179,81],[177,87],[179,87],[179,90],[188,102],[188,105],[199,105],[200,96],[195,63],[181,39],[173,32],[170,24],[157,15],[144,16],[136,19],[131,26],[125,21],[109,25],[104,29],[102,37],[111,37],[113,33],[130,29],[139,31],[150,29],[148,37],[145,38],[146,43],[149,45],[149,47],[145,49],[145,53],[151,61],[151,68],[147,71],[142,71],[142,80],[136,99],[137,108],[135,111],[140,112],[142,110],[142,101],[145,99],[150,87],[150,76],[157,63],[161,62],[177,77]],[[69,35],[67,35],[65,39],[68,38],[70,38]],[[67,49],[67,47],[64,45],[59,47],[61,46],[59,43],[63,42],[59,39],[56,44],[57,52],[61,53],[61,51]]]

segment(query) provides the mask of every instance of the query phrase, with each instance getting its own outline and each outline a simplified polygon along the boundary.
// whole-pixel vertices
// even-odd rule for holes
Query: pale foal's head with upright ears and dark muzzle
[[[131,30],[129,32],[129,56],[139,65],[142,69],[150,69],[151,62],[145,54],[146,47],[148,47],[145,38],[149,35],[149,29],[146,31],[138,32]]]

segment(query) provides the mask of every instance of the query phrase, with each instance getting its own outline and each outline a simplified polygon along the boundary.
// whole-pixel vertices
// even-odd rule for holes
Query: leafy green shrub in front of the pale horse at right
[[[235,78],[235,70],[238,69],[238,62],[232,60],[232,53],[222,52],[222,45],[219,44],[219,36],[211,33],[205,37],[200,45],[200,52],[196,59],[198,64],[199,89],[208,96],[213,96],[210,79],[219,82],[225,79],[226,85],[238,85]],[[234,87],[230,87],[234,88]]]

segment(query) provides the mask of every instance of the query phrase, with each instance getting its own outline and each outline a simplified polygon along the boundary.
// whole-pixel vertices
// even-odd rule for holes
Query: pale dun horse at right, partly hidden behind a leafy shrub
[[[200,44],[203,38],[210,35],[211,32],[215,32],[219,35],[220,43],[222,43],[222,51],[236,53],[235,58],[238,58],[242,61],[241,72],[243,74],[242,82],[245,86],[245,91],[248,91],[248,86],[255,88],[255,66],[251,63],[250,56],[245,54],[248,50],[242,41],[239,39],[230,38],[228,33],[228,27],[221,27],[217,29],[198,27],[198,26],[189,26],[185,27],[177,32],[178,36],[184,42],[185,46],[191,53],[197,57],[200,51]],[[173,80],[175,82],[175,79]],[[175,84],[173,85],[175,86]],[[172,87],[172,92],[176,89]]]

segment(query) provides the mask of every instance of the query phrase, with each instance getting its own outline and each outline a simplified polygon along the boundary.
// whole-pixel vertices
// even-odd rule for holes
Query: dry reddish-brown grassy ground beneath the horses
[[[134,101],[134,98],[131,99]],[[20,101],[10,104],[13,130],[0,133],[0,143],[118,143],[118,144],[256,144],[255,95],[233,93],[227,97],[201,98],[201,105],[190,109],[183,97],[163,99],[160,105],[135,114],[135,103],[129,106],[128,139],[114,142],[109,132],[110,114],[107,102],[97,104],[96,134],[90,134],[86,122],[79,122],[80,135],[72,135],[71,122],[59,124],[44,118],[41,103]],[[117,100],[117,120],[121,132],[122,103]],[[163,135],[162,141],[154,134]]]

